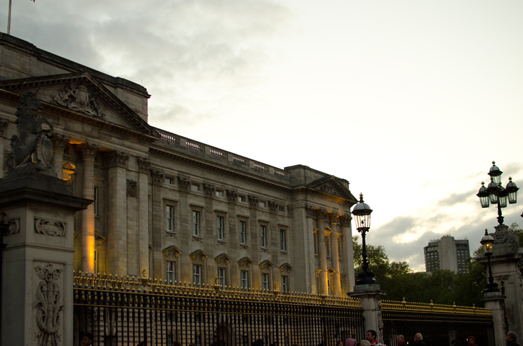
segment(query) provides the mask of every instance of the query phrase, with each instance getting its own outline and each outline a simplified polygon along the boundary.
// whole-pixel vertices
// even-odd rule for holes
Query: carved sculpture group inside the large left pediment
[[[105,115],[100,109],[97,95],[91,93],[83,83],[76,88],[71,84],[67,84],[58,91],[52,91],[51,98],[55,100],[58,105],[65,106],[77,112],[92,115],[93,117],[103,117]]]

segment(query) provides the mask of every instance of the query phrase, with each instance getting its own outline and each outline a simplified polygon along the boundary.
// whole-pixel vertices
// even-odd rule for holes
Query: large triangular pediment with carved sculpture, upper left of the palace
[[[0,89],[20,95],[28,91],[36,93],[44,112],[65,115],[59,111],[62,109],[69,117],[76,114],[77,121],[159,137],[147,121],[87,72],[0,81]]]

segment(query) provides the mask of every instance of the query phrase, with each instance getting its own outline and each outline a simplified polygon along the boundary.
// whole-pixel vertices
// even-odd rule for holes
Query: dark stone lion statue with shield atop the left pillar
[[[15,168],[32,166],[39,173],[56,177],[51,164],[53,124],[41,117],[42,108],[37,95],[32,92],[23,95],[16,105],[18,135],[13,135],[11,138],[11,153],[6,159],[6,166],[10,172]],[[43,124],[46,124],[49,129],[44,130]]]

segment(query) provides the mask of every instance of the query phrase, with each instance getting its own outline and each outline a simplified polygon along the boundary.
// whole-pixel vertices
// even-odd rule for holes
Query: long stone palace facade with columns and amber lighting
[[[347,180],[275,168],[147,124],[143,86],[0,34],[0,150],[36,93],[53,169],[93,199],[74,217],[74,270],[345,295],[354,286]],[[5,156],[4,156],[5,157]],[[0,177],[6,166],[1,160]]]

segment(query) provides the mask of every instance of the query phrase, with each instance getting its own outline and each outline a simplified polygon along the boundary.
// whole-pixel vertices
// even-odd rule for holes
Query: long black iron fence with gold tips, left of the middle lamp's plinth
[[[75,345],[88,332],[95,345],[335,346],[362,340],[364,321],[354,298],[75,276]]]

